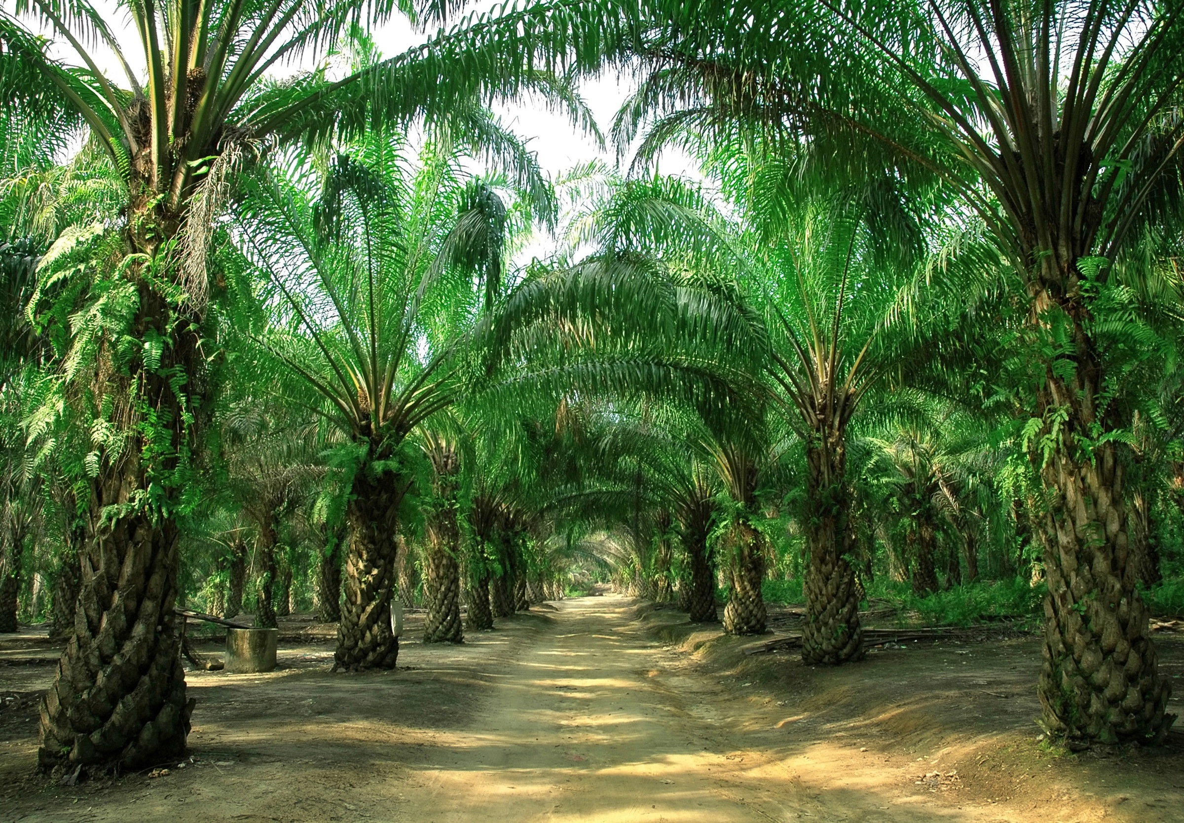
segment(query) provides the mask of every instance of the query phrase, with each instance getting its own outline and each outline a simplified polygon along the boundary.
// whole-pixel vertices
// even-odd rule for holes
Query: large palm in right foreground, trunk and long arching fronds
[[[744,121],[806,135],[839,176],[887,168],[955,195],[990,240],[982,272],[1011,279],[1023,306],[1027,442],[1047,499],[1042,722],[1073,740],[1165,733],[1171,687],[1125,570],[1131,420],[1106,388],[1133,335],[1096,297],[1146,230],[1176,219],[1175,6],[811,0],[771,13],[752,0],[559,0],[483,22],[440,50],[575,71],[637,60],[643,90],[625,130],[656,117],[652,146],[693,137],[690,123]]]

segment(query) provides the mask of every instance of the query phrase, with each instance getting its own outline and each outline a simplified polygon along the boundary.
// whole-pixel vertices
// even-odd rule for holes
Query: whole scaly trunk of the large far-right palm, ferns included
[[[1162,740],[1176,715],[1166,713],[1171,681],[1159,676],[1137,585],[1125,446],[1098,437],[1098,430],[1113,431],[1122,422],[1106,419],[1118,412],[1099,399],[1103,364],[1088,334],[1082,276],[1072,262],[1049,257],[1041,263],[1036,297],[1058,304],[1057,320],[1073,335],[1072,360],[1048,364],[1036,394],[1036,416],[1057,425],[1045,423],[1030,455],[1045,502],[1035,527],[1048,580],[1041,722],[1070,745]],[[1056,368],[1067,365],[1072,368]]]

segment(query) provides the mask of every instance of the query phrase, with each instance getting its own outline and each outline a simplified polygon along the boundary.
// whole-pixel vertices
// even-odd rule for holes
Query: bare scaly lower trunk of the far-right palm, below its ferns
[[[1074,459],[1061,446],[1041,477],[1049,493],[1042,724],[1070,741],[1162,738],[1175,720],[1165,714],[1171,682],[1159,677],[1135,585],[1117,449],[1103,443]]]

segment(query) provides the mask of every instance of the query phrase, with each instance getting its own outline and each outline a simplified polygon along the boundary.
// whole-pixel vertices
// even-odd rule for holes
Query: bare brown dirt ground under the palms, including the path
[[[1184,821],[1184,735],[1082,754],[1036,739],[1032,637],[811,668],[605,596],[349,675],[329,673],[328,629],[301,626],[275,673],[189,673],[182,765],[77,786],[33,769],[54,647],[0,641],[0,821]],[[1182,636],[1157,645],[1178,679]]]

